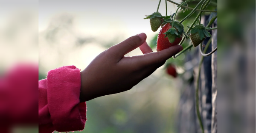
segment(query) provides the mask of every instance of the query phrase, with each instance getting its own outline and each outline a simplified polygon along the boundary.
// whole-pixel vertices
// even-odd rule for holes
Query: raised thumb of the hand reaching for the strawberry
[[[109,48],[110,53],[115,53],[117,58],[122,58],[125,54],[131,52],[132,50],[140,47],[147,39],[145,33],[140,33],[135,36],[131,36],[123,42],[116,44]]]

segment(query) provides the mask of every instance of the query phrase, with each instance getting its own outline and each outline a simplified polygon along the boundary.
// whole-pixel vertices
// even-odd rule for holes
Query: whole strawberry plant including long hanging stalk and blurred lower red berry
[[[178,7],[176,12],[174,14],[170,14],[169,16],[167,15],[167,1],[169,1],[173,4],[176,4]],[[203,12],[217,13],[217,11],[206,10],[207,6],[210,3],[212,3],[211,0],[200,0],[200,1],[185,0],[185,1],[181,2],[180,4],[175,3],[172,0],[165,0],[165,2],[166,2],[166,16],[162,16],[160,14],[160,12],[158,11],[160,3],[161,3],[161,0],[159,0],[159,4],[157,6],[157,11],[151,15],[146,16],[146,18],[144,18],[144,19],[150,19],[150,25],[151,25],[152,31],[155,32],[161,27],[160,31],[157,35],[157,48],[156,48],[157,52],[164,50],[166,48],[169,48],[173,45],[177,45],[177,44],[183,45],[183,42],[185,39],[188,39],[188,41],[191,43],[189,43],[189,45],[187,47],[185,47],[182,51],[180,51],[180,53],[177,53],[177,55],[174,55],[173,58],[176,58],[177,56],[181,55],[185,51],[190,50],[192,48],[192,46],[194,46],[194,47],[199,46],[200,52],[203,55],[203,57],[209,56],[217,50],[217,47],[216,47],[214,50],[212,50],[212,52],[205,54],[205,51],[210,44],[210,42],[208,42],[207,47],[205,47],[205,49],[204,49],[204,52],[202,51],[202,42],[207,37],[208,38],[211,37],[211,34],[208,31],[217,29],[217,27],[210,28],[212,23],[217,18],[217,15],[212,17],[212,19],[209,21],[208,25],[201,24],[201,15]],[[196,3],[196,6],[194,8],[188,7],[189,3]],[[200,9],[199,9],[199,7],[200,7]],[[175,20],[178,11],[183,11],[182,13],[185,13],[186,11],[188,11],[188,9],[190,9],[192,11],[189,14],[187,14],[183,19],[181,19],[180,21]],[[199,11],[199,13],[196,11]],[[196,15],[192,24],[186,25],[188,30],[185,32],[183,22],[186,19],[188,19],[189,17],[193,16],[193,14],[196,14],[196,13],[198,13],[198,14]],[[189,18],[189,19],[191,19],[191,18]],[[211,40],[211,39],[209,39],[209,40]],[[201,59],[201,61],[202,60],[203,60],[203,58]],[[202,63],[200,62],[199,74],[200,74],[201,64]],[[170,75],[173,75],[174,77],[176,77],[176,75],[177,75],[177,74],[175,74],[176,70],[173,69],[174,67],[172,67],[172,65],[170,65],[169,67],[167,66],[166,68],[167,68],[167,72]],[[198,77],[199,77],[199,75],[198,75]],[[198,85],[196,88],[195,97],[196,97],[195,98],[196,99],[196,113],[197,113],[198,120],[199,120],[201,129],[202,129],[202,133],[204,133],[204,126],[203,126],[203,123],[201,120],[201,115],[199,112]]]

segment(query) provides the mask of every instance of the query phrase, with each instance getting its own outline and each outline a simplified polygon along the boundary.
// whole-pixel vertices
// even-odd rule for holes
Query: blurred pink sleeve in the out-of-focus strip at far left
[[[38,65],[19,64],[0,77],[0,130],[38,123]]]

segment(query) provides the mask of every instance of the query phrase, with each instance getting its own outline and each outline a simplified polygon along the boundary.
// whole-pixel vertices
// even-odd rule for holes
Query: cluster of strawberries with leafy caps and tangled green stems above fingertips
[[[178,5],[176,12],[174,14],[171,14],[170,16],[167,15],[167,1]],[[150,25],[151,25],[152,31],[154,32],[157,31],[161,26],[160,32],[158,33],[158,37],[157,37],[157,52],[163,49],[169,48],[173,45],[177,45],[177,44],[182,45],[185,39],[190,39],[192,44],[189,45],[187,49],[185,48],[183,51],[180,52],[180,53],[183,53],[184,51],[190,49],[192,46],[197,47],[199,44],[201,44],[201,42],[204,41],[206,37],[211,37],[210,33],[207,30],[212,30],[216,28],[209,28],[210,26],[209,24],[206,27],[202,25],[201,15],[203,12],[217,12],[217,11],[205,10],[205,8],[207,8],[211,0],[200,0],[200,2],[195,6],[195,8],[189,8],[188,3],[194,2],[194,1],[195,0],[186,0],[178,4],[173,2],[172,0],[166,0],[166,16],[162,16],[161,13],[158,11],[161,3],[161,0],[159,0],[157,11],[151,15],[146,15],[144,19],[150,19]],[[198,9],[199,6],[201,6],[200,9]],[[183,12],[187,11],[187,9],[192,9],[192,11],[179,22],[175,20],[177,11],[179,11],[179,9]],[[184,25],[182,23],[187,18],[189,18],[192,14],[194,14],[195,11],[200,11],[200,12],[197,15],[197,17],[194,19],[192,24],[188,26],[189,29],[185,33]],[[199,20],[199,24],[195,25],[195,23],[198,20]],[[180,53],[174,56],[174,58],[180,55]],[[205,55],[205,54],[202,54],[202,55]]]

